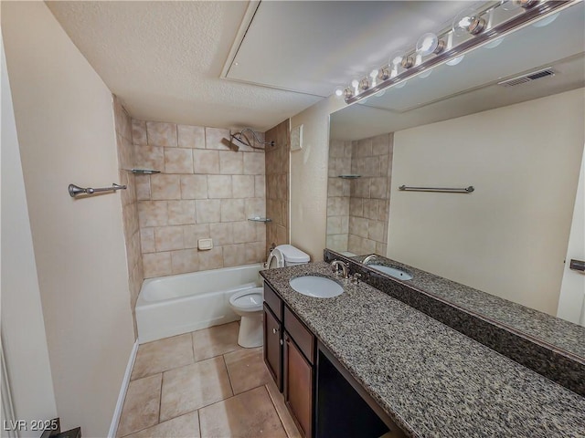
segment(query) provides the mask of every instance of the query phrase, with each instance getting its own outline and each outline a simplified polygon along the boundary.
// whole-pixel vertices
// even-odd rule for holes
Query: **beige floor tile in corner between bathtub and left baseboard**
[[[155,340],[138,348],[131,380],[193,363],[191,334]]]

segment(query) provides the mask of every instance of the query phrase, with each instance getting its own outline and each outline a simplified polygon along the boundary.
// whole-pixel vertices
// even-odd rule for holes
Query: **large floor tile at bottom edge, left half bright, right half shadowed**
[[[201,436],[286,438],[265,387],[242,392],[199,411]]]

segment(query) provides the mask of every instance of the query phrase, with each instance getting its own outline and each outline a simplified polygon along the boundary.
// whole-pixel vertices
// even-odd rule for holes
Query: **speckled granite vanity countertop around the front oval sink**
[[[585,437],[585,398],[365,283],[306,297],[293,276],[261,271],[388,416],[414,437]]]

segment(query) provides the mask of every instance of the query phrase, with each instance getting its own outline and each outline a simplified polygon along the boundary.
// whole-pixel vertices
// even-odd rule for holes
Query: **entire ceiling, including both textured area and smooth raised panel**
[[[267,130],[469,2],[47,4],[133,117]]]

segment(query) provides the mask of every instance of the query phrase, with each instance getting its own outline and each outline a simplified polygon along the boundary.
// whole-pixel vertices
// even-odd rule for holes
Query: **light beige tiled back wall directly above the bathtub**
[[[264,151],[222,143],[229,130],[132,120],[144,277],[266,260]],[[197,240],[213,239],[198,250]]]

